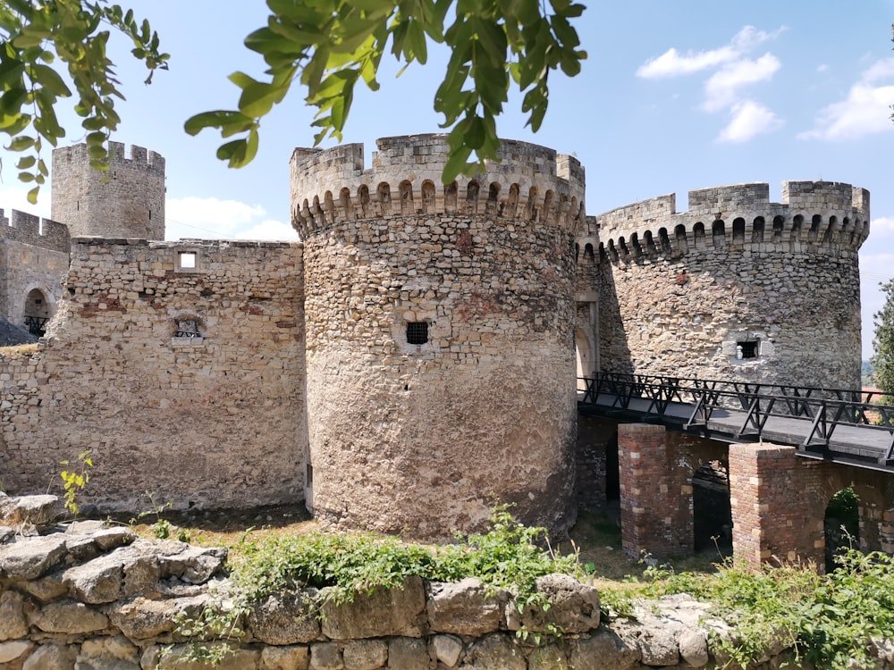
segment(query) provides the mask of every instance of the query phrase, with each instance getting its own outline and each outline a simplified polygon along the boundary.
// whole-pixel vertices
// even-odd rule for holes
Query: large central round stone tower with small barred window
[[[494,501],[574,521],[574,233],[584,171],[504,141],[443,186],[446,136],[296,149],[304,240],[308,507],[450,539]]]

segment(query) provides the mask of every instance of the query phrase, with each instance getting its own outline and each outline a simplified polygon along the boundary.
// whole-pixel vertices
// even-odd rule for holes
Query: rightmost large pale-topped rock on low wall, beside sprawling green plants
[[[526,606],[519,612],[515,602],[506,606],[506,627],[510,631],[562,632],[591,631],[599,625],[599,592],[568,574],[547,574],[536,581],[536,591],[544,594],[550,607]]]

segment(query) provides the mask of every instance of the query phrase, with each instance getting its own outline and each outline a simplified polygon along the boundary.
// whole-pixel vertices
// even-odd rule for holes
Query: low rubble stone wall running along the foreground
[[[46,498],[46,497],[41,497]],[[0,502],[3,502],[0,500]],[[225,598],[226,551],[136,539],[121,527],[73,523],[13,537],[0,526],[0,666],[7,670],[202,670],[183,662],[175,619]],[[325,591],[274,594],[240,619],[245,636],[225,670],[640,670],[715,667],[729,660],[709,632],[729,632],[688,596],[645,602],[635,619],[601,621],[598,593],[566,575],[538,590],[548,611],[519,613],[510,594],[475,579],[425,583],[320,604]],[[536,645],[516,635],[549,624],[565,634]],[[209,647],[219,641],[208,641]],[[780,653],[783,657],[780,657]],[[784,658],[773,649],[767,661]],[[774,667],[768,665],[767,667]],[[881,668],[890,667],[882,662]]]

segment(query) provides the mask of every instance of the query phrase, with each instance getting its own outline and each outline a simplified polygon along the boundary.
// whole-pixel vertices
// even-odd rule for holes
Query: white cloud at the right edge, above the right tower
[[[875,86],[894,79],[894,58],[883,58],[869,66],[848,96],[820,110],[814,128],[799,133],[799,139],[856,139],[877,132],[890,132],[890,105],[894,103],[894,84]]]

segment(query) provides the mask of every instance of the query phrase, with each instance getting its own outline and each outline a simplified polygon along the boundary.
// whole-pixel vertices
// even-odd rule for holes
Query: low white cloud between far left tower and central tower
[[[175,197],[164,208],[166,239],[232,238],[236,230],[266,214],[260,205],[216,197]]]

